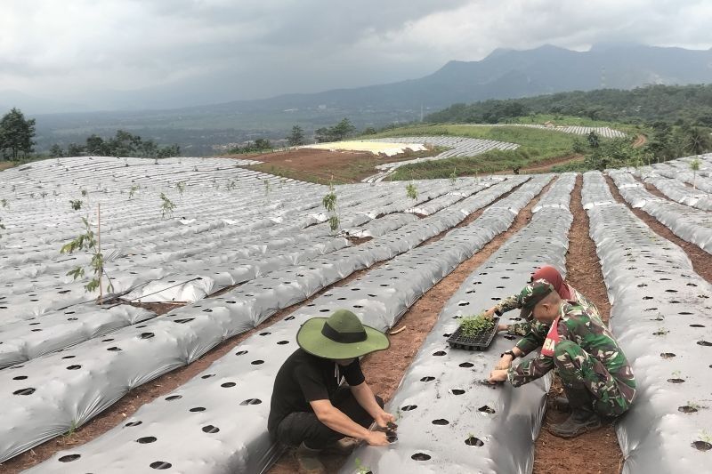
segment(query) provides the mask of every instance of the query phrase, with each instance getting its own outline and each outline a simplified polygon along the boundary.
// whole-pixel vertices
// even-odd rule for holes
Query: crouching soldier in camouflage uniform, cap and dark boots
[[[492,371],[490,382],[508,380],[519,387],[555,369],[571,407],[568,420],[549,427],[561,438],[595,430],[601,426],[601,416],[624,414],[635,398],[635,377],[595,307],[562,300],[545,280],[535,280],[522,293],[522,307],[532,309],[538,324],[503,354],[510,367]],[[538,357],[511,366],[514,358],[538,348]]]

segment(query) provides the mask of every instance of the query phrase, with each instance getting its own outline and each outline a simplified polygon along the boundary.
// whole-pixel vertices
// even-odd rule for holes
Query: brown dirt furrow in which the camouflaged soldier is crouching
[[[569,232],[569,252],[566,254],[566,281],[586,294],[595,303],[603,321],[607,322],[611,304],[595,253],[595,243],[588,237],[588,215],[581,205],[582,182],[579,175],[571,194],[573,222]],[[555,381],[549,397],[555,398],[561,393],[561,383]],[[546,426],[563,422],[567,416],[547,406],[544,426],[535,445],[534,474],[617,474],[623,454],[613,426],[607,424],[601,430],[573,439],[556,438],[546,430]]]

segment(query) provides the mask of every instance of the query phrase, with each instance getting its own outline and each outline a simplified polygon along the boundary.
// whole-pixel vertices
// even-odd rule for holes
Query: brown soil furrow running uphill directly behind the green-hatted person
[[[553,181],[517,214],[514,224],[509,229],[493,238],[490,243],[482,247],[480,252],[458,265],[447,277],[434,285],[410,307],[397,325],[397,328],[405,327],[406,329],[390,337],[391,347],[388,350],[376,352],[363,358],[361,361],[363,373],[374,393],[380,395],[386,402],[392,398],[403,375],[425,341],[425,337],[433,329],[445,303],[457,292],[465,279],[490,258],[492,253],[497,252],[499,247],[504,245],[516,232],[529,224],[531,208],[538,203],[539,197],[546,193],[552,183]],[[509,194],[507,193],[507,195]],[[499,197],[495,203],[507,195]],[[479,215],[481,212],[478,212]],[[328,472],[337,472],[345,460],[346,456],[336,454],[324,454],[321,458]],[[271,470],[267,471],[267,474],[295,474],[298,471],[294,456],[287,452],[272,466]]]

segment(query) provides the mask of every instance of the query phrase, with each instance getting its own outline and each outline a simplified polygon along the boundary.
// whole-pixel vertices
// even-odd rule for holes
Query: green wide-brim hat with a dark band
[[[337,309],[329,317],[312,317],[296,333],[299,347],[319,358],[360,358],[388,349],[384,333],[363,325],[348,309]]]

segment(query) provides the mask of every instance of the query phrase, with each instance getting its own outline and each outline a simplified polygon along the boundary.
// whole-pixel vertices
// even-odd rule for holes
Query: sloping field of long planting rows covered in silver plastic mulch
[[[688,161],[413,181],[415,193],[341,185],[337,229],[327,186],[248,160],[73,157],[0,172],[0,472],[293,471],[267,434],[272,382],[300,325],[338,308],[393,333],[363,366],[401,419],[396,443],[333,458],[334,471],[704,472],[712,157],[695,189]],[[60,253],[82,218],[99,235],[100,205],[101,305],[85,290],[90,254]],[[581,446],[538,438],[550,378],[482,382],[514,341],[446,343],[457,317],[544,263],[610,307],[639,384],[632,411]],[[607,436],[622,454],[595,450]]]

